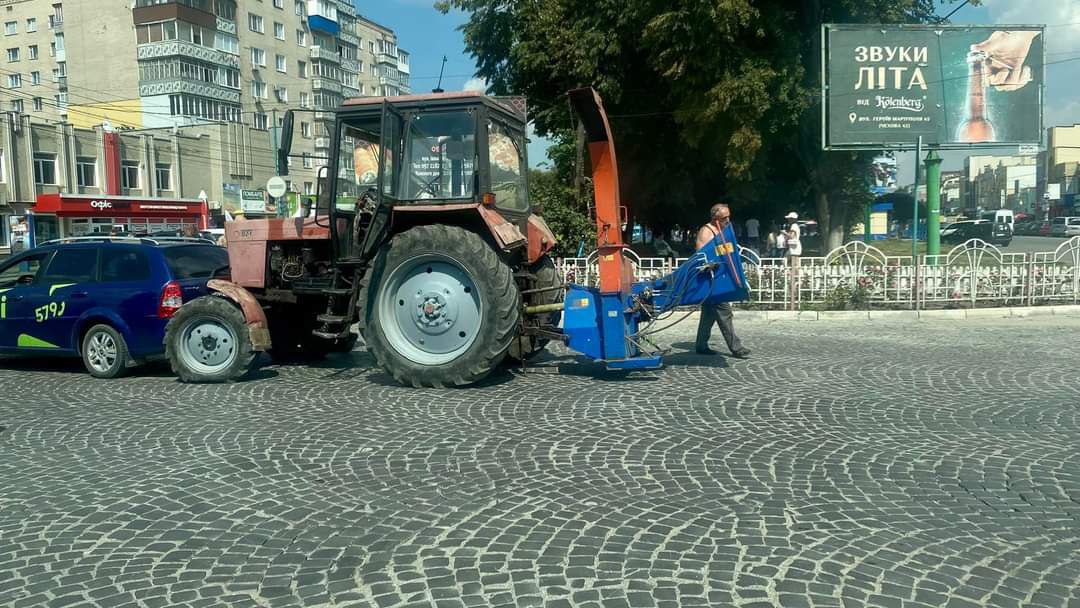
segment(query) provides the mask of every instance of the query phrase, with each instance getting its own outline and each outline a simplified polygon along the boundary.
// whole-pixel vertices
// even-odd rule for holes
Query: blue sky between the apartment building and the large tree
[[[435,0],[356,0],[356,10],[397,33],[397,45],[409,52],[413,93],[427,93],[435,87],[444,55],[443,90],[482,91],[486,83],[476,78],[476,63],[465,52],[458,31],[458,26],[467,21],[465,14],[454,11],[444,15],[433,8],[434,3]],[[538,166],[546,160],[549,145],[530,133],[530,165]]]

